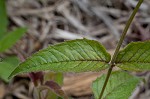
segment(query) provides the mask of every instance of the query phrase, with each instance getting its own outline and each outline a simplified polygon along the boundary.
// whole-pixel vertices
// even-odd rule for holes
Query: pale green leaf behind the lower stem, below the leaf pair
[[[106,75],[97,78],[92,84],[95,99],[98,99]],[[139,83],[140,78],[129,75],[124,71],[113,72],[110,76],[102,99],[128,99],[135,87]]]

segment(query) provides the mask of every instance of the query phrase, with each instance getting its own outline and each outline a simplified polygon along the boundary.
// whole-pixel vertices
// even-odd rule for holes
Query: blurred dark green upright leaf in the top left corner
[[[0,0],[0,39],[7,32],[8,18],[6,12],[6,0]]]

